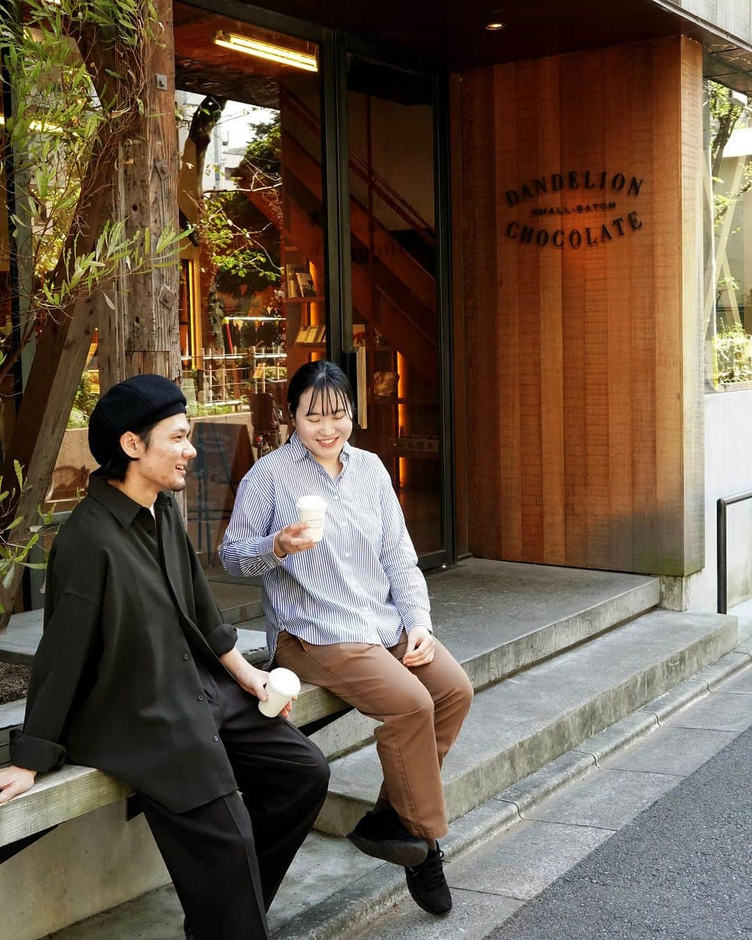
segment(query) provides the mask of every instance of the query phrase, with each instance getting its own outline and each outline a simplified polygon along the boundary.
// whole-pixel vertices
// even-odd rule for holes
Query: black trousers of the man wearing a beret
[[[196,940],[266,940],[265,912],[326,795],[321,751],[229,676],[199,667],[238,792],[185,813],[141,803]]]

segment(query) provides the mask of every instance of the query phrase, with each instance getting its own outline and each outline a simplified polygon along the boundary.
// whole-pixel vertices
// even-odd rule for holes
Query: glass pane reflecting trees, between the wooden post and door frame
[[[181,4],[175,41],[188,523],[226,581],[217,548],[238,484],[287,441],[288,377],[326,349],[318,50]]]

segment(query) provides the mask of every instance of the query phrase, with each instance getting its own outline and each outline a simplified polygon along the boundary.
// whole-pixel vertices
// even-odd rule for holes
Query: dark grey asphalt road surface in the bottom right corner
[[[752,729],[488,940],[752,938]]]

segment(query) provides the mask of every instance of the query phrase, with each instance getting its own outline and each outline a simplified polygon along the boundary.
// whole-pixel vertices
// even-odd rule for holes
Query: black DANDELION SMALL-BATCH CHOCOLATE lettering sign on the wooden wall
[[[606,170],[569,170],[522,183],[504,194],[509,209],[528,211],[535,222],[513,219],[507,238],[540,248],[592,248],[613,242],[642,228],[631,208],[640,195],[642,179]],[[579,192],[575,192],[579,191]],[[560,193],[556,205],[546,197]],[[559,227],[566,224],[566,227]]]

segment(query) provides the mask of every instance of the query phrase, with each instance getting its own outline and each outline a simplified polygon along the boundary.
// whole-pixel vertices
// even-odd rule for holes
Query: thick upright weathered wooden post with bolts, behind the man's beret
[[[164,26],[145,63],[144,114],[120,150],[115,215],[129,230],[160,234],[179,227],[178,133],[175,122],[175,46],[172,4],[157,0]],[[156,372],[180,384],[180,265],[145,274],[123,273],[115,309],[99,302],[99,367],[102,393],[132,375]]]

